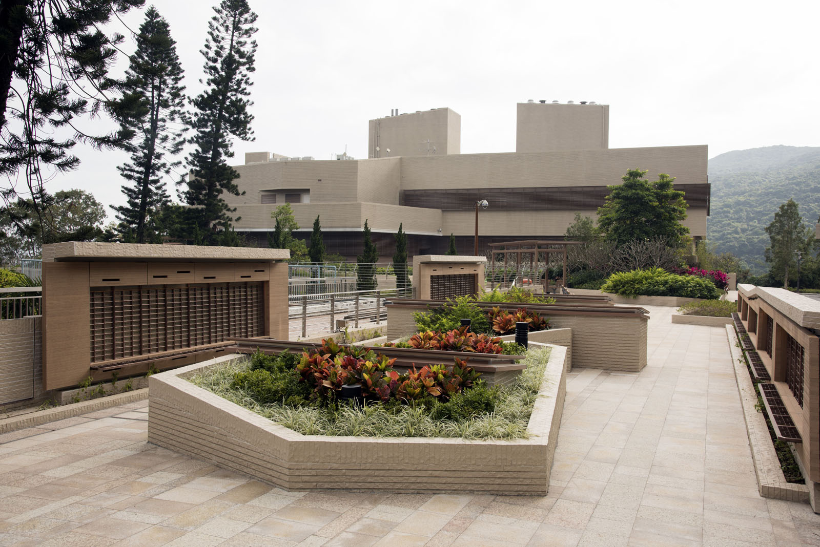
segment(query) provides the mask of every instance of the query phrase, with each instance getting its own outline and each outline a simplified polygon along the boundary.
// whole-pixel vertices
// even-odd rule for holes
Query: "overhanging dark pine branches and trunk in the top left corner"
[[[77,142],[112,149],[126,147],[130,134],[92,135],[75,129],[76,118],[106,111],[116,120],[129,115],[130,96],[108,75],[124,37],[103,29],[144,0],[2,0],[0,2],[0,187],[7,204],[30,201],[33,223],[47,239],[53,198],[43,188],[52,170],[75,170]],[[9,121],[11,120],[11,124]],[[62,128],[73,134],[57,136]],[[25,183],[17,185],[18,181]]]

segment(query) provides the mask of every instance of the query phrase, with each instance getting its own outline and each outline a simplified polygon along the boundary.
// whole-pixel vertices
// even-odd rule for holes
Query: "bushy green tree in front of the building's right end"
[[[645,174],[628,170],[622,184],[607,187],[609,195],[598,209],[599,228],[618,246],[635,239],[663,237],[668,246],[680,247],[689,233],[681,224],[688,206],[684,192],[674,189],[674,177],[662,173],[650,183],[642,179]]]

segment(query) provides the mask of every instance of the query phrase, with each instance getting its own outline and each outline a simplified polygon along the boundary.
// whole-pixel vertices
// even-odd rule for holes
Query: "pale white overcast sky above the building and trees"
[[[188,93],[198,93],[212,3],[153,4],[171,25]],[[367,120],[392,108],[449,106],[461,115],[462,153],[515,151],[516,103],[528,99],[610,105],[612,148],[707,144],[711,158],[820,146],[817,2],[250,5],[256,140],[235,142],[233,165],[246,151],[329,160],[347,147],[367,158]],[[136,30],[143,20],[133,11],[125,23]],[[76,153],[80,169],[48,189],[124,202],[116,165],[125,154]]]

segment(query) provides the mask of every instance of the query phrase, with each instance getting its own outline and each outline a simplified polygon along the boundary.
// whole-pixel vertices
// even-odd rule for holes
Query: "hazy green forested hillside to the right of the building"
[[[813,227],[820,215],[820,147],[736,150],[709,160],[712,183],[707,238],[715,251],[745,260],[754,273],[768,269],[763,231],[789,198]]]

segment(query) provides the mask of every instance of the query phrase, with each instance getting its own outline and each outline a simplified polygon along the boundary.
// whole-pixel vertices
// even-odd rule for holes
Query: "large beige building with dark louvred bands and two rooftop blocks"
[[[282,160],[254,152],[235,166],[244,195],[225,201],[241,217],[237,231],[261,246],[274,228],[271,212],[283,203],[302,227],[298,237],[309,237],[319,215],[327,251],[348,257],[361,254],[367,219],[389,260],[399,223],[410,255],[444,254],[450,233],[459,253],[471,255],[475,203],[487,200],[479,221],[483,255],[492,242],[563,237],[576,212],[594,217],[607,186],[637,168],[647,177],[676,177],[689,203],[684,224],[693,237],[706,236],[705,145],[610,149],[607,105],[522,103],[517,123],[519,151],[460,154],[460,116],[449,108],[371,120],[372,159]],[[428,138],[435,153],[418,150]]]

